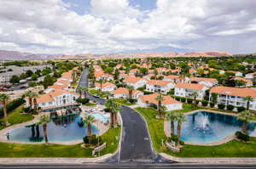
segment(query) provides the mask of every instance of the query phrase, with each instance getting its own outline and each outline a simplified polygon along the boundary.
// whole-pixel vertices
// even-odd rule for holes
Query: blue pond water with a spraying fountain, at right
[[[236,131],[241,131],[242,121],[235,115],[223,115],[208,111],[200,111],[186,115],[187,121],[183,123],[181,139],[189,143],[212,143],[223,139]],[[177,124],[175,124],[176,132]],[[256,123],[247,125],[247,132],[256,136]],[[171,124],[168,122],[168,129]]]

